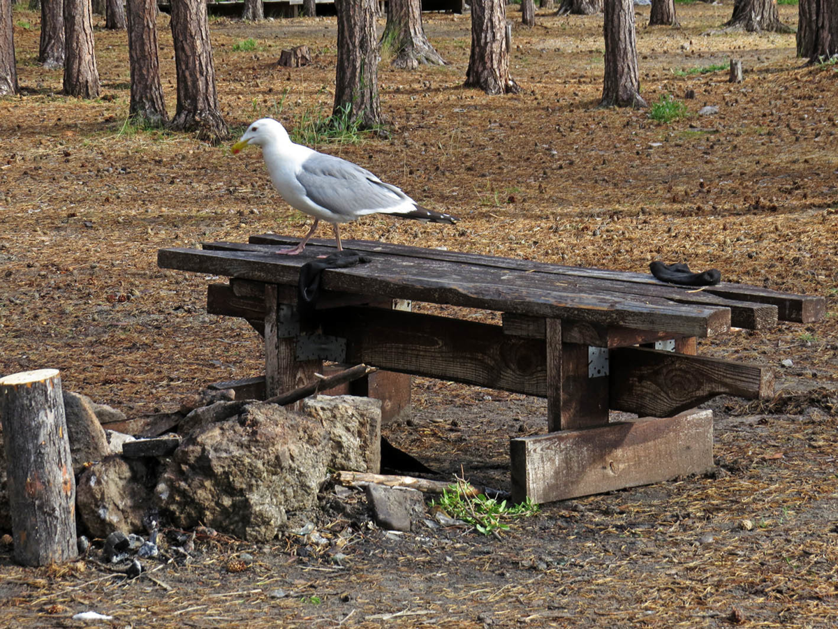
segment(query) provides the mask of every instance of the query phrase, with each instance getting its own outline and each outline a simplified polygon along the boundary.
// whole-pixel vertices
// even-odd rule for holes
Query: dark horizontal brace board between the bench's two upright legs
[[[371,307],[324,311],[321,326],[347,339],[347,362],[546,395],[543,341],[510,337],[500,326]]]

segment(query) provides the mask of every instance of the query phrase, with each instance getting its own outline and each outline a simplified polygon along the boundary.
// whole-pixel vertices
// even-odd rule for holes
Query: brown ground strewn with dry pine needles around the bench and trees
[[[779,9],[796,23],[796,6]],[[677,11],[681,28],[648,28],[649,9],[638,9],[646,99],[696,92],[691,116],[671,124],[597,108],[601,17],[539,13],[528,30],[510,9],[523,90],[491,97],[461,87],[468,16],[427,14],[449,64],[381,64],[391,138],[319,148],[463,220],[374,217],[344,234],[632,271],[685,260],[728,281],[824,295],[823,322],[700,343],[775,365],[798,399],[743,414],[717,400],[713,475],[545,505],[501,539],[458,528],[394,536],[324,515],[324,535],[349,536],[343,565],[302,556],[292,538],[254,547],[199,536],[189,562],[149,565],[152,578],[133,581],[92,562],[22,569],[3,548],[0,626],[79,626],[70,616],[88,609],[115,627],[834,626],[838,415],[834,397],[811,391],[838,380],[838,72],[803,67],[794,35],[704,35],[729,18],[729,0]],[[96,29],[102,98],[65,98],[60,73],[35,60],[38,16],[16,8],[14,18],[23,93],[0,100],[0,374],[59,368],[66,389],[137,416],[259,373],[256,334],[204,312],[208,278],[156,266],[160,247],[303,234],[259,153],[128,126],[124,33]],[[158,27],[173,113],[168,18]],[[294,126],[330,108],[334,18],[220,19],[211,37],[234,135],[260,116]],[[247,38],[258,48],[235,51]],[[297,44],[314,63],[277,69]],[[684,72],[731,57],[742,59],[741,85],[727,71]],[[705,105],[718,114],[697,116]],[[508,487],[510,436],[544,429],[539,400],[421,379],[413,396],[392,441],[474,482]],[[251,565],[228,570],[242,552]]]

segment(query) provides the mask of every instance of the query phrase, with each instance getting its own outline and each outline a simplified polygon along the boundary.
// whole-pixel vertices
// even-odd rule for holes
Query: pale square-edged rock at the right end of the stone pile
[[[381,401],[354,395],[318,395],[303,400],[302,412],[330,433],[329,467],[372,472],[381,467]]]

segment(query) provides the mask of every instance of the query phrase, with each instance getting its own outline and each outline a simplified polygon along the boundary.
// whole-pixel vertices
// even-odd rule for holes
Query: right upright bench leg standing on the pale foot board
[[[547,319],[546,348],[548,431],[608,424],[608,373],[588,374],[588,346],[562,343],[561,321]]]

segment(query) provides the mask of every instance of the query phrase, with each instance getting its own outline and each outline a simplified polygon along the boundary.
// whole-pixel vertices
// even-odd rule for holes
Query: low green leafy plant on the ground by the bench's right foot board
[[[432,500],[431,506],[439,505],[452,518],[473,524],[478,533],[489,535],[498,531],[507,531],[510,525],[505,520],[528,518],[541,509],[530,498],[525,502],[508,505],[505,500],[498,502],[494,498],[487,498],[484,494],[472,496],[468,491],[470,486],[462,478],[457,484],[452,484],[450,491],[442,492],[439,502]]]

